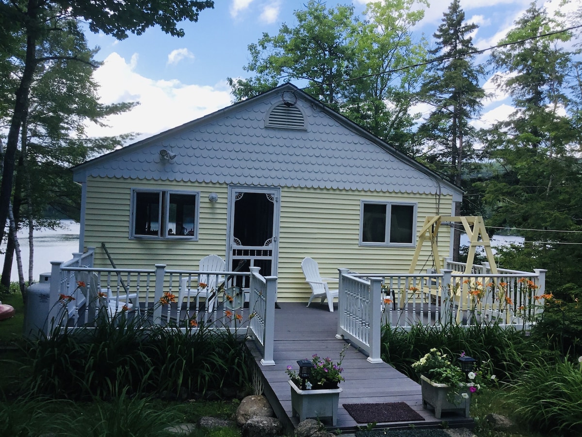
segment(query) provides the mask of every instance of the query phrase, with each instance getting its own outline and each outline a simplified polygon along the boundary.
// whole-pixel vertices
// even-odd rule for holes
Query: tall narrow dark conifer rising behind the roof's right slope
[[[485,91],[479,85],[484,68],[474,65],[476,50],[471,34],[474,23],[466,23],[459,0],[453,0],[429,51],[442,58],[428,66],[420,99],[434,108],[418,128],[417,142],[423,145],[422,159],[450,181],[461,184],[463,163],[474,157],[476,137],[471,121],[478,117]]]

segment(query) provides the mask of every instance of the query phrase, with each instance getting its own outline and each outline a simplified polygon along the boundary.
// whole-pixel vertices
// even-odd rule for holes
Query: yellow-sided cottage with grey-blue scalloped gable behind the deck
[[[73,168],[80,246],[95,267],[197,270],[216,253],[279,277],[278,299],[307,300],[301,260],[407,272],[427,216],[454,215],[462,191],[291,84]],[[439,250],[450,252],[449,228]],[[432,266],[430,248],[424,269]]]

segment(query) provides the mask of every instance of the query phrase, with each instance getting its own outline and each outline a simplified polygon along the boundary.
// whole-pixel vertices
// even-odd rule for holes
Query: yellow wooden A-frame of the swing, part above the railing
[[[473,267],[473,261],[475,259],[475,251],[477,250],[477,247],[482,246],[485,251],[485,256],[487,256],[491,273],[497,274],[497,266],[495,265],[495,258],[493,256],[493,251],[491,250],[491,240],[489,240],[489,235],[487,235],[485,223],[481,216],[434,216],[425,218],[424,225],[420,232],[418,232],[418,242],[410,264],[409,273],[414,273],[414,269],[416,269],[418,264],[418,257],[420,256],[425,241],[430,242],[435,269],[437,269],[437,273],[441,273],[443,266],[441,265],[442,258],[438,252],[437,234],[441,224],[451,222],[462,223],[464,231],[467,233],[467,237],[469,237],[469,253],[467,253],[467,265],[464,273],[471,273],[471,267]]]

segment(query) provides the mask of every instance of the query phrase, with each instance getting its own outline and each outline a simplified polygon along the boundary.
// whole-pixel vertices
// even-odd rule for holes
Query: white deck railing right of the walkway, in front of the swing
[[[462,268],[461,263],[446,264]],[[450,268],[441,274],[356,274],[339,269],[338,336],[380,360],[381,327],[410,329],[418,325],[471,326],[495,323],[530,329],[545,305],[546,270],[498,269],[485,263],[470,274]]]

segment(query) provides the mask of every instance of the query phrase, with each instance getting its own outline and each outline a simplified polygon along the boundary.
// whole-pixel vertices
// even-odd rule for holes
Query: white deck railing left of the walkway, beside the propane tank
[[[246,325],[260,344],[262,364],[275,364],[275,276],[262,277],[258,267],[251,267],[250,272],[168,270],[162,264],[154,269],[95,268],[93,254],[94,248],[89,248],[86,253],[74,253],[68,262],[51,263],[48,330],[58,323],[73,329],[91,326],[103,308],[111,318],[123,312],[142,317],[149,325],[182,329],[196,329],[204,322],[211,323],[213,329],[234,330],[246,336],[247,331],[242,329]],[[218,284],[217,290],[208,290],[215,293],[215,305],[208,312],[196,305],[198,284],[203,282]],[[249,308],[245,308],[242,296],[239,305],[229,306],[225,290],[229,290],[229,284],[243,283],[250,284],[242,290],[248,295]],[[184,296],[182,305],[162,303],[164,299],[178,301],[180,295]]]

